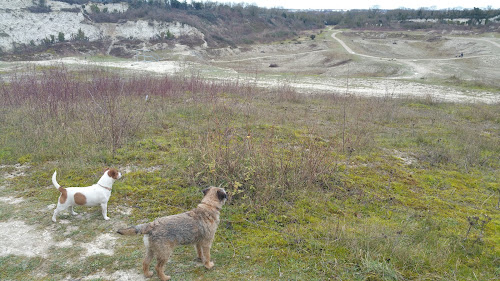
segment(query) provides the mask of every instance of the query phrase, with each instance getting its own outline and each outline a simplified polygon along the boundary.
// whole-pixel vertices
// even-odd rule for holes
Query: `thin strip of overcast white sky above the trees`
[[[217,1],[224,3],[225,1]],[[395,0],[232,0],[234,3],[255,4],[265,8],[287,8],[287,9],[369,9],[377,5],[380,9],[411,8],[421,7],[446,9],[446,8],[468,8],[474,7],[494,9],[500,8],[500,0],[419,0],[419,1],[395,1]]]

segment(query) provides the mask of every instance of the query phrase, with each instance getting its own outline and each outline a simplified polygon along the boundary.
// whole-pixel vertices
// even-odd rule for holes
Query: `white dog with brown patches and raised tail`
[[[52,183],[61,192],[57,207],[54,210],[52,221],[56,222],[57,214],[71,207],[71,214],[77,215],[73,206],[98,206],[102,208],[102,216],[105,220],[108,218],[108,200],[111,197],[111,188],[115,180],[122,177],[122,174],[116,169],[106,169],[101,179],[94,185],[87,187],[61,187],[56,181],[57,171],[52,175]]]

